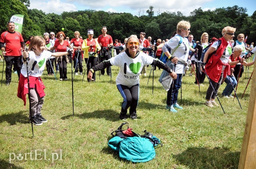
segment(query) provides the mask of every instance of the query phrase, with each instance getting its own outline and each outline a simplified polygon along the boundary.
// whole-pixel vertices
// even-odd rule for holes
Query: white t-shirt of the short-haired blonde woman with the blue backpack
[[[167,46],[171,47],[171,55],[172,56],[175,56],[179,59],[187,61],[188,60],[188,53],[189,53],[189,50],[190,50],[189,45],[188,45],[188,39],[187,38],[182,38],[182,43],[177,48],[177,46],[180,43],[180,38],[182,38],[182,37],[174,36],[174,37],[172,37],[172,39],[165,42],[165,44]],[[185,65],[176,64],[175,73],[177,73],[177,74],[185,73]]]

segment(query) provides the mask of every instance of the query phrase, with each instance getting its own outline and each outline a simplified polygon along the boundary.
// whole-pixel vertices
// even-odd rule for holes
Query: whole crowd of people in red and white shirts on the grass
[[[230,26],[223,28],[222,37],[219,39],[212,37],[209,41],[208,33],[204,32],[200,41],[196,42],[193,35],[190,34],[188,21],[180,21],[177,24],[177,30],[170,39],[157,39],[154,40],[154,43],[152,43],[150,36],[146,39],[145,32],[140,32],[139,38],[136,35],[131,35],[124,40],[124,44],[118,39],[115,39],[115,43],[113,43],[112,37],[107,34],[106,26],[102,27],[102,34],[96,39],[93,38],[93,29],[88,29],[88,38],[86,39],[82,39],[80,33],[75,31],[74,38],[69,41],[69,37],[60,31],[57,32],[56,37],[54,32],[50,32],[50,34],[45,32],[44,38],[30,36],[25,43],[21,34],[14,31],[13,22],[8,22],[7,28],[8,31],[3,32],[0,39],[1,50],[6,61],[5,83],[7,86],[10,85],[12,66],[14,66],[19,80],[21,74],[22,81],[19,81],[19,92],[23,92],[24,83],[27,82],[27,70],[25,70],[23,62],[25,63],[26,58],[29,58],[28,63],[31,69],[29,70],[31,73],[29,80],[32,77],[31,80],[33,81],[29,91],[33,96],[32,117],[35,117],[35,120],[32,118],[32,121],[36,125],[47,122],[41,116],[44,86],[42,88],[35,86],[42,83],[40,76],[43,74],[44,66],[46,66],[48,76],[54,75],[55,66],[56,73],[58,71],[60,73],[60,81],[67,81],[67,64],[73,61],[75,74],[82,75],[84,59],[88,82],[96,81],[96,71],[100,71],[100,74],[104,75],[106,69],[107,75],[112,76],[111,66],[118,66],[120,69],[116,77],[116,86],[123,97],[119,118],[125,121],[127,117],[137,120],[136,108],[139,101],[140,75],[147,76],[148,65],[154,67],[155,70],[156,67],[163,69],[172,77],[172,85],[167,91],[166,109],[176,113],[178,109],[183,109],[182,105],[178,104],[178,93],[182,77],[188,70],[190,60],[189,76],[195,74],[195,85],[204,86],[206,75],[209,77],[209,87],[204,104],[208,107],[214,107],[218,106],[215,97],[221,83],[227,84],[221,95],[225,98],[234,97],[232,96],[233,88],[236,87],[244,66],[249,67],[254,64],[254,60],[247,63],[245,59],[255,53],[256,49],[253,49],[253,43],[247,47],[244,42],[244,34],[239,34],[236,37],[237,40],[234,41],[236,28]],[[25,51],[27,45],[30,54]],[[23,57],[21,48],[24,51]],[[112,48],[116,50],[115,57],[112,57]],[[205,49],[207,50],[205,51]],[[204,57],[201,57],[203,55]],[[43,66],[38,66],[42,59],[45,59],[43,64],[40,63]],[[20,93],[18,96],[24,100],[24,95]],[[24,104],[26,104],[25,101]],[[129,114],[127,115],[129,107]]]

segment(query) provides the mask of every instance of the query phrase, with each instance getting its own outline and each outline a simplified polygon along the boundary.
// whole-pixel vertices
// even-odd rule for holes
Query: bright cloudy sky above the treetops
[[[256,11],[255,0],[30,0],[29,9],[38,9],[47,13],[61,14],[63,11],[110,11],[118,13],[131,13],[132,15],[147,15],[146,11],[149,6],[154,7],[154,16],[157,13],[164,11],[177,12],[180,11],[183,15],[188,16],[191,11],[202,8],[202,10],[215,10],[216,8],[239,7],[247,8],[247,14],[252,16]],[[246,2],[246,3],[245,3]],[[140,12],[139,12],[140,11]]]

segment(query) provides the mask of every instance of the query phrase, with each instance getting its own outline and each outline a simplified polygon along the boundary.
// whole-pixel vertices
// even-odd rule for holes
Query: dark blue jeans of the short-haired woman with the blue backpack
[[[182,74],[177,74],[177,79],[175,79],[173,82],[173,89],[171,86],[171,88],[167,92],[166,104],[168,106],[170,106],[170,105],[172,106],[173,104],[177,103],[179,89],[181,86],[181,78],[182,78]],[[172,96],[172,98],[171,98],[171,96]]]

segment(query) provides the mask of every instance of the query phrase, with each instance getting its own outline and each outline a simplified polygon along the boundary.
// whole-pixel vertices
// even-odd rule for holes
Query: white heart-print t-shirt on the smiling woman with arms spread
[[[122,84],[132,87],[140,82],[140,72],[144,65],[152,64],[151,56],[140,52],[139,55],[132,59],[125,52],[116,55],[109,59],[111,65],[120,67],[120,71],[116,77],[116,85]]]

